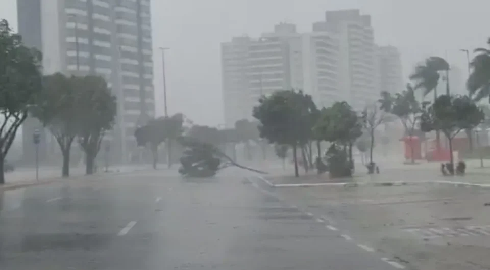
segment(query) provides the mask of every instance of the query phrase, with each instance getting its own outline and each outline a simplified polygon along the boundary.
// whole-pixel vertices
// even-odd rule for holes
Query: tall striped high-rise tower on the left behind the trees
[[[107,139],[113,154],[128,161],[136,126],[155,112],[149,0],[17,0],[17,12],[19,33],[42,51],[45,74],[107,80],[117,97],[116,126]],[[33,125],[23,126],[25,156]]]

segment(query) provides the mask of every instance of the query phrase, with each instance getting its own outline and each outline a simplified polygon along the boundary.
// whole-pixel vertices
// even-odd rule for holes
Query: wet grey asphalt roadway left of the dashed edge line
[[[395,269],[233,169],[0,193],[0,269]]]

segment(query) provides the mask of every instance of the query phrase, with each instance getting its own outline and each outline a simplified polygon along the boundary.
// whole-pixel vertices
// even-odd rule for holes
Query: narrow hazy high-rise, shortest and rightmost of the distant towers
[[[378,46],[377,57],[380,92],[398,93],[405,90],[399,50],[394,46]]]

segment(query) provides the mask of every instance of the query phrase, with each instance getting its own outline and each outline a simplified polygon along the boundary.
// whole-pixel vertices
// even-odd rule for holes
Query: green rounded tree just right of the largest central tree
[[[313,130],[324,141],[348,148],[349,161],[353,162],[352,145],[362,135],[362,121],[347,102],[335,102],[331,107],[323,108]]]

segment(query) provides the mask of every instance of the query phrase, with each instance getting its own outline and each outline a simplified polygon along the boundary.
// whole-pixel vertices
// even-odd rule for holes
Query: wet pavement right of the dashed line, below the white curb
[[[406,268],[490,269],[488,189],[419,184],[288,187],[271,192],[302,211],[325,217],[342,234]]]

